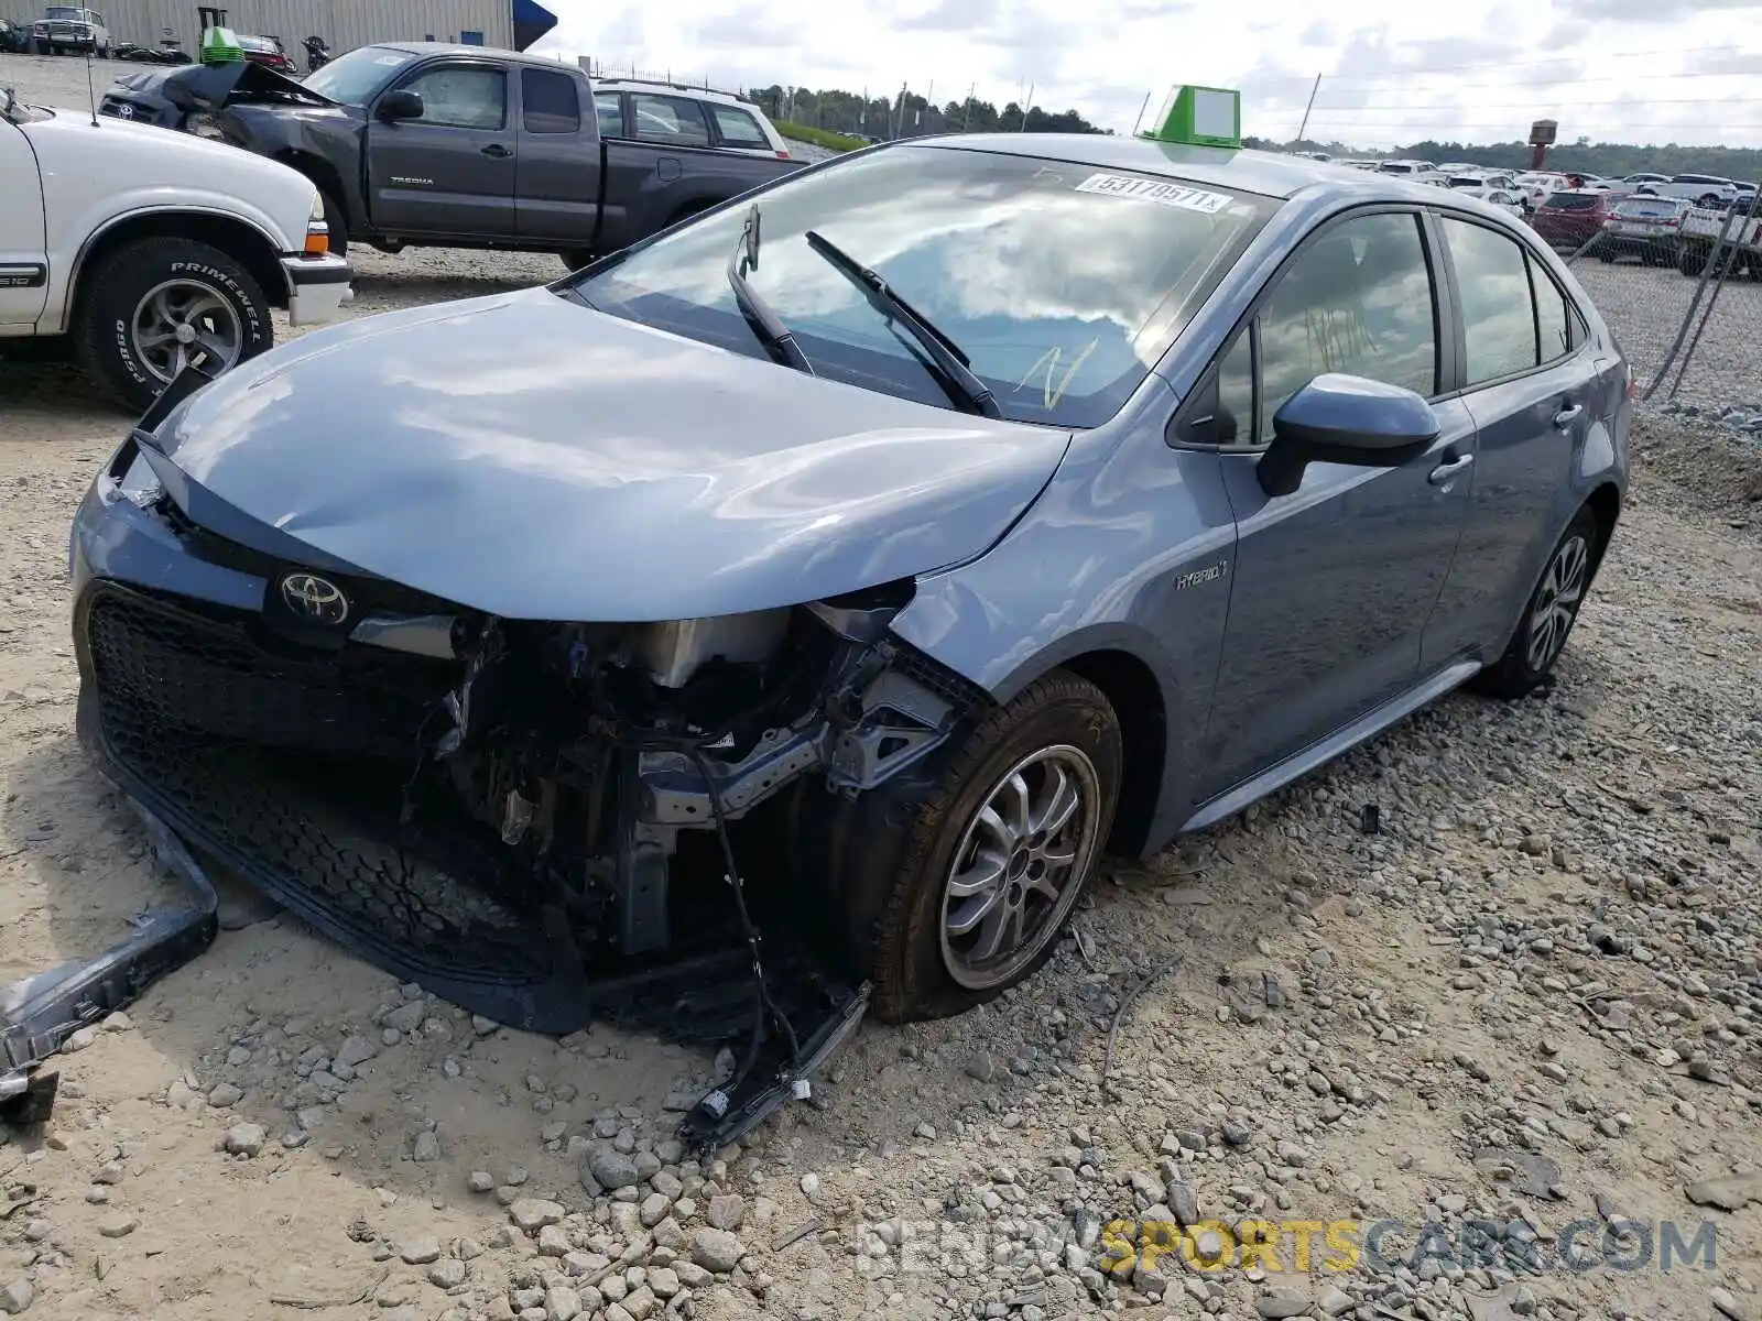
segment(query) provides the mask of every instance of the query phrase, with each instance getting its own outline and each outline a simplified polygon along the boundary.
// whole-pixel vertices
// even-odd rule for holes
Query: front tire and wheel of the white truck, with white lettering
[[[270,299],[238,261],[206,243],[143,238],[81,280],[79,359],[118,403],[144,412],[196,347],[229,370],[275,342]]]

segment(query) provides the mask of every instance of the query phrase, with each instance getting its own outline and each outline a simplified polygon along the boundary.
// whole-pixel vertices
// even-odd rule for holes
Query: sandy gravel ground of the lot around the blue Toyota
[[[359,266],[349,315],[557,269]],[[1586,273],[1630,347],[1672,280]],[[1716,329],[1721,412],[1762,391]],[[72,738],[67,523],[125,424],[0,365],[0,981],[160,886]],[[0,1314],[1755,1321],[1762,451],[1653,412],[1635,458],[1551,692],[1450,697],[1110,872],[1029,985],[867,1027],[707,1166],[668,1134],[708,1059],[470,1020],[229,893],[234,930],[69,1043],[48,1129],[0,1131]],[[1196,1259],[1108,1270],[1138,1219]],[[1270,1252],[1205,1268],[1256,1222]]]

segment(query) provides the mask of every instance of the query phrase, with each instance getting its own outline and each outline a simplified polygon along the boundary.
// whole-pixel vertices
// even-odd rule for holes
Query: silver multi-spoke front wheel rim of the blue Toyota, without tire
[[[1101,779],[1070,743],[1015,763],[985,796],[943,884],[943,967],[967,990],[1017,978],[1057,935],[1099,840]]]

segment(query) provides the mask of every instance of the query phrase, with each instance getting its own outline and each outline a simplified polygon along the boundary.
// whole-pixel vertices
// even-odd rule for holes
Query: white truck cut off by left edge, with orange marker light
[[[271,308],[337,315],[317,188],[275,160],[0,90],[0,351],[67,336],[141,412],[197,351],[213,373],[275,342]]]

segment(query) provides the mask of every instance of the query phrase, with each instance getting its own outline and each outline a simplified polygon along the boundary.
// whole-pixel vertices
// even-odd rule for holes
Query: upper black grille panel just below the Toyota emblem
[[[106,710],[335,757],[409,763],[456,678],[451,662],[365,645],[277,650],[248,615],[204,616],[116,590],[92,602],[86,641]]]

